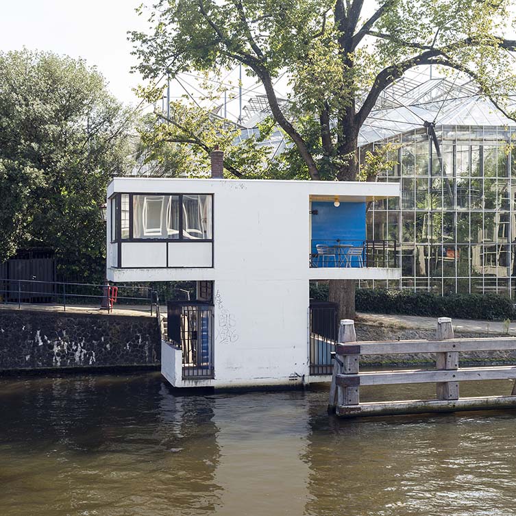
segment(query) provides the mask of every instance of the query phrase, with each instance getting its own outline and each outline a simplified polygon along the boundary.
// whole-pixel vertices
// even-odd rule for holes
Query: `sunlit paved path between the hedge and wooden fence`
[[[418,330],[435,330],[437,317],[419,317],[416,315],[386,315],[357,313],[357,322],[395,328],[417,328]],[[469,319],[452,319],[456,332],[479,332],[516,335],[516,321],[507,330],[502,321],[470,321]]]

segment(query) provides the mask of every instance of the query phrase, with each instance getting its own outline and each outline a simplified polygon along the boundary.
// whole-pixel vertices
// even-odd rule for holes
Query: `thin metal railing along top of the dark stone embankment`
[[[39,280],[12,280],[0,278],[0,301],[3,304],[51,304],[66,307],[71,306],[102,306],[112,310],[108,301],[109,284],[46,282]],[[157,295],[152,288],[145,286],[116,285],[116,308],[129,310],[148,306],[153,312]]]

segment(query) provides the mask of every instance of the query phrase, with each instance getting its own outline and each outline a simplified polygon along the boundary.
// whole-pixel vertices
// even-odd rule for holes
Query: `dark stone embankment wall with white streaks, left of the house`
[[[0,371],[158,366],[156,317],[0,310]]]

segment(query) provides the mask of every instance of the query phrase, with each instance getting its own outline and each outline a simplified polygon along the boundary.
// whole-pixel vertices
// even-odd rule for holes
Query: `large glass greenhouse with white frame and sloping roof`
[[[360,137],[361,160],[390,144],[397,164],[378,181],[402,184],[367,213],[367,238],[399,243],[402,278],[360,286],[514,297],[516,123],[471,84],[403,79]]]

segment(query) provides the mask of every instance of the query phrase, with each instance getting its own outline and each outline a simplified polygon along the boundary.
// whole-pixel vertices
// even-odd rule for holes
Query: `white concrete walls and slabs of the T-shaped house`
[[[341,202],[367,201],[375,195],[399,195],[400,187],[385,183],[123,178],[110,184],[108,195],[115,192],[214,194],[212,269],[195,269],[195,265],[205,263],[206,249],[198,262],[188,256],[188,269],[153,269],[153,263],[162,263],[161,251],[145,251],[145,256],[140,256],[134,249],[138,263],[145,268],[108,268],[108,278],[116,282],[214,280],[215,379],[181,380],[177,369],[171,372],[177,364],[170,363],[180,356],[172,356],[167,348],[162,370],[176,386],[247,386],[295,384],[308,375],[310,278],[319,277],[317,274],[327,279],[344,278],[345,274],[371,278],[375,277],[373,271],[379,270],[310,269],[310,195],[339,195]],[[169,244],[169,263],[170,252],[177,245],[182,244]],[[192,250],[199,245],[191,244]],[[132,260],[136,263],[136,258]],[[380,270],[383,272],[377,273],[383,277],[386,269]],[[399,272],[389,273],[389,278],[393,274]]]

